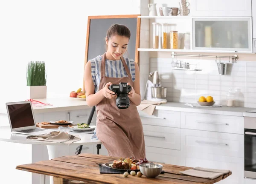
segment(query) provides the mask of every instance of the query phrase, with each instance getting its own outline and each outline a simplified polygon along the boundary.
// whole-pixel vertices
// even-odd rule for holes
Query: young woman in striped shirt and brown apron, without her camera
[[[120,24],[107,32],[107,52],[89,60],[85,66],[85,91],[88,106],[96,106],[96,136],[110,156],[145,158],[143,126],[137,111],[140,105],[140,72],[134,60],[123,56],[131,33]],[[130,106],[119,109],[115,92],[108,89],[120,82],[132,86]]]

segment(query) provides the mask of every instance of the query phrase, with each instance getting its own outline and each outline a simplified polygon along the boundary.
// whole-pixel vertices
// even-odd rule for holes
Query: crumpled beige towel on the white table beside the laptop
[[[74,136],[65,132],[58,132],[58,131],[52,131],[47,134],[41,134],[41,135],[29,135],[26,138],[36,140],[36,141],[50,141],[50,142],[63,143],[67,145],[70,145],[73,142],[81,140],[79,135]]]

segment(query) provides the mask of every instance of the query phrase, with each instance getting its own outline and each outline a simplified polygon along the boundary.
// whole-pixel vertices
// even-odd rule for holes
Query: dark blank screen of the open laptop
[[[34,118],[30,103],[8,105],[12,128],[34,126]]]

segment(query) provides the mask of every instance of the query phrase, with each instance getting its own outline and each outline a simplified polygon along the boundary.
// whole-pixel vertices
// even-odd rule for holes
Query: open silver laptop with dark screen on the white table
[[[36,127],[31,101],[8,102],[6,103],[6,109],[12,132],[27,135],[52,132],[49,129]]]

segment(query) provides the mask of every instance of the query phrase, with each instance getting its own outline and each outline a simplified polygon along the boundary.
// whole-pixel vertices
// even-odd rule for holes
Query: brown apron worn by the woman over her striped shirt
[[[126,82],[133,86],[128,66],[124,58],[121,57],[121,59],[128,77],[109,78],[105,76],[106,53],[102,55],[99,90],[104,88],[108,82],[113,84]],[[134,103],[130,101],[130,106],[127,109],[118,109],[116,98],[104,98],[96,105],[96,112],[96,135],[108,150],[110,156],[145,158],[143,126]]]

